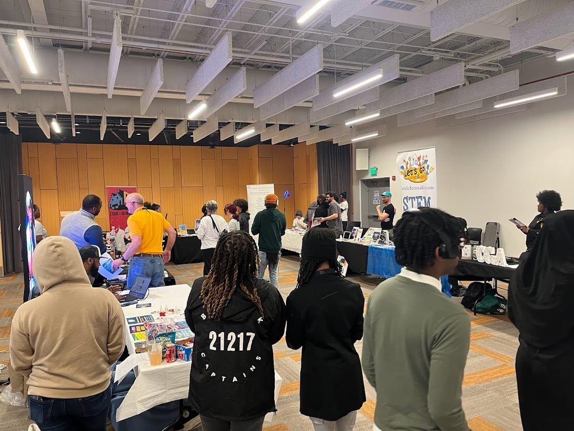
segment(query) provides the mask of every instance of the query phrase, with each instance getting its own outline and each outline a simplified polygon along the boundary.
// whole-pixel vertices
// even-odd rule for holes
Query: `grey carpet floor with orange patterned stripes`
[[[297,282],[298,259],[284,257],[279,271],[279,288],[286,298]],[[166,269],[178,284],[192,284],[201,277],[203,264],[172,265]],[[351,276],[358,282],[365,298],[376,287],[373,279]],[[22,274],[9,274],[0,278],[0,363],[7,363],[10,323],[22,301],[24,284]],[[504,292],[504,291],[502,291]],[[460,301],[460,298],[452,298]],[[472,431],[522,431],[518,410],[514,358],[518,348],[518,333],[506,316],[472,316],[471,347],[463,383],[463,406]],[[362,350],[362,341],[356,343]],[[277,414],[265,431],[312,431],[308,418],[299,413],[299,372],[301,351],[290,350],[285,340],[274,346],[275,367],[283,379],[277,402]],[[0,381],[7,371],[0,373]],[[336,376],[344,378],[344,376]],[[373,429],[376,394],[365,381],[367,402],[357,415],[355,430]],[[31,423],[28,410],[0,403],[0,430],[24,431]],[[201,427],[196,428],[201,429]]]

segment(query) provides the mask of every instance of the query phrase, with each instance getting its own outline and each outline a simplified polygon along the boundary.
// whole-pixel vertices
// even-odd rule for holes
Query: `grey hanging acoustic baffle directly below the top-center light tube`
[[[301,84],[304,80],[323,70],[323,45],[309,49],[293,63],[273,75],[253,91],[253,107],[275,99],[278,95]]]

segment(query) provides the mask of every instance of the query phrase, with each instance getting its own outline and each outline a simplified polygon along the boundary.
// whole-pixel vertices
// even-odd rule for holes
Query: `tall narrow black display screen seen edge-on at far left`
[[[20,240],[22,242],[22,262],[24,266],[24,302],[32,298],[37,287],[32,262],[36,248],[36,228],[34,226],[34,199],[32,178],[18,175],[18,196],[20,197]]]

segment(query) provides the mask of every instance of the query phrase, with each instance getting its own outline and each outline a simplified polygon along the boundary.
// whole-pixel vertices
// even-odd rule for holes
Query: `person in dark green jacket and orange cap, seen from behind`
[[[263,279],[266,267],[269,267],[269,279],[271,284],[278,287],[277,273],[279,270],[279,258],[281,257],[281,236],[285,235],[287,220],[284,213],[277,209],[279,198],[273,193],[265,196],[265,209],[259,211],[253,220],[251,233],[259,235],[259,275]]]

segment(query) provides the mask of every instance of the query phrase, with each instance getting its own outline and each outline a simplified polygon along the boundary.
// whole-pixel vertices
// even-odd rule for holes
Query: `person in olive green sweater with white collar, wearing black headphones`
[[[435,208],[406,211],[394,229],[405,267],[369,298],[362,365],[377,390],[374,431],[468,431],[461,403],[470,317],[441,292],[458,263],[460,226]]]

